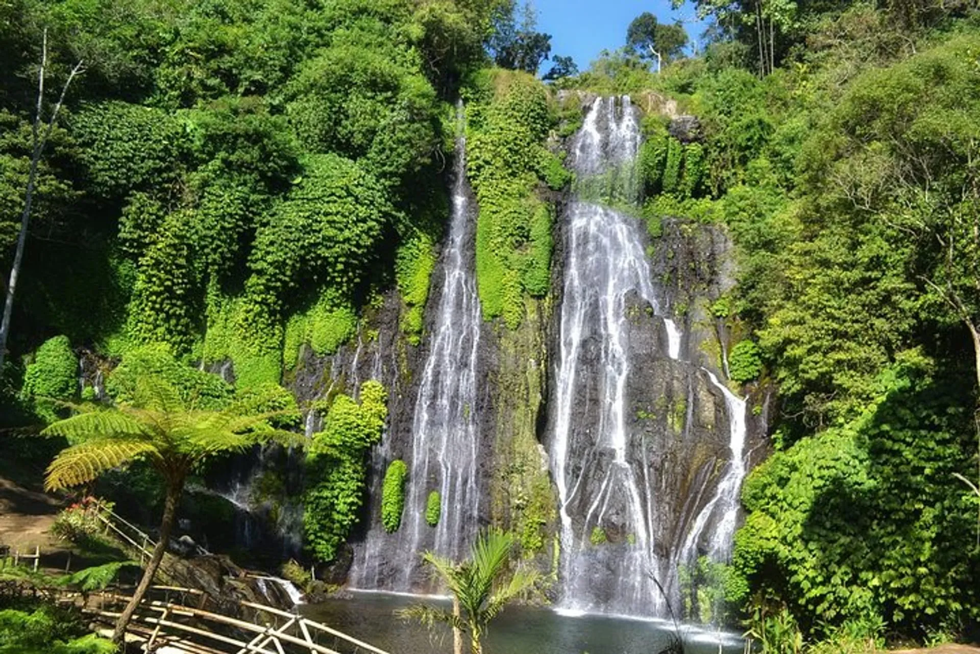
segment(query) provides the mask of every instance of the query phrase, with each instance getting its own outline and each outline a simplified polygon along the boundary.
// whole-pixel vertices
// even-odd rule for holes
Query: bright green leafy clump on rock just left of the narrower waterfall
[[[331,561],[357,521],[364,501],[368,450],[381,439],[387,393],[378,382],[361,386],[361,402],[339,395],[307,452],[309,479],[303,527],[319,561]]]

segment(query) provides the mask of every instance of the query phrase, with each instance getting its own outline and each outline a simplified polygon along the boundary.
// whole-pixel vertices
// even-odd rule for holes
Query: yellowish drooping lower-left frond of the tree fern
[[[137,456],[155,453],[156,445],[145,439],[96,438],[72,445],[48,466],[44,488],[60,491],[85,484]]]

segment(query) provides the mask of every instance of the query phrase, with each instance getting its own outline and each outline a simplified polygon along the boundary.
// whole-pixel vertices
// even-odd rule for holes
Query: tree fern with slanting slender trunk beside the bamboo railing
[[[115,642],[122,642],[164,558],[188,475],[216,456],[269,441],[294,444],[300,438],[274,426],[295,406],[279,387],[232,394],[221,379],[179,366],[160,350],[144,352],[128,363],[111,378],[115,403],[73,406],[75,415],[41,432],[70,442],[48,466],[45,487],[49,491],[87,484],[135,460],[148,462],[163,478],[166,497],[160,537],[116,624]]]

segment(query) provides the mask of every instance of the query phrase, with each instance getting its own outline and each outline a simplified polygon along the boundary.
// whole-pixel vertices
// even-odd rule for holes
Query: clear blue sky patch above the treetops
[[[643,12],[651,12],[661,23],[693,20],[694,8],[687,4],[673,12],[670,0],[532,0],[538,12],[538,31],[552,35],[552,55],[571,56],[580,70],[604,48],[614,50],[626,42],[626,28]],[[685,23],[688,35],[698,38],[703,23]],[[541,66],[546,71],[548,62]]]

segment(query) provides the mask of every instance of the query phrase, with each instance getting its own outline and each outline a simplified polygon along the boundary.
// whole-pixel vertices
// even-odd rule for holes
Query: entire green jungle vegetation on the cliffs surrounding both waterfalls
[[[697,9],[711,24],[697,54],[649,17],[578,72],[546,61],[549,36],[513,0],[0,0],[5,281],[44,35],[46,114],[84,69],[38,168],[0,422],[36,431],[64,415],[53,399],[94,398],[79,357],[172,375],[189,373],[160,361],[230,361],[239,390],[285,385],[304,349],[354,338],[391,289],[417,343],[458,99],[483,316],[514,330],[552,293],[572,182],[552,146],[582,119],[562,98],[671,100],[698,133],[644,118],[638,218],[654,238],[668,218],[727,230],[737,284],[711,311],[735,343],[730,380],[757,411],[772,402],[731,564],[691,574],[760,630],[975,633],[980,13],[962,0]],[[324,401],[306,534],[328,561],[356,521],[347,499],[363,494],[385,399]]]

